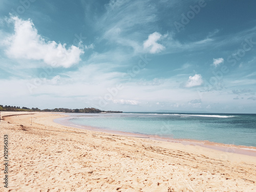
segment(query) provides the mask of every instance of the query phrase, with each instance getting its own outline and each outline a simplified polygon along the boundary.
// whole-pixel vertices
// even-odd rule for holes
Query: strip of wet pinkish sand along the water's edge
[[[118,134],[118,135],[129,136],[129,137],[147,138],[147,139],[153,139],[153,140],[168,141],[168,142],[173,142],[173,143],[182,143],[183,145],[199,145],[202,147],[211,148],[211,149],[222,151],[222,152],[236,153],[236,154],[242,154],[242,155],[256,157],[256,147],[255,146],[217,143],[217,142],[212,142],[212,141],[208,141],[208,140],[180,139],[180,138],[176,139],[176,138],[160,137],[157,135],[113,131],[113,130],[108,130],[108,129],[101,129],[101,128],[94,127],[94,126],[71,124],[69,119],[72,119],[72,118],[74,118],[74,117],[72,117],[70,115],[66,115],[66,117],[54,119],[54,122],[59,123],[64,126],[71,126],[71,127],[77,128],[77,129],[96,131],[99,133],[109,133],[109,134]]]

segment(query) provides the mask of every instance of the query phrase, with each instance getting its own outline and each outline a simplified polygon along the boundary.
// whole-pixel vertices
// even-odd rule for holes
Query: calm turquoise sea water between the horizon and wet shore
[[[168,138],[256,146],[256,114],[70,114],[70,123]]]

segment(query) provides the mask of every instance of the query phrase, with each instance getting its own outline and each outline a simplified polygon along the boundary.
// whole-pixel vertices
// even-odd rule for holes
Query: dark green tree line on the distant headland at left
[[[122,113],[121,111],[101,111],[95,108],[84,108],[84,109],[66,109],[66,108],[55,108],[55,109],[44,109],[40,110],[38,108],[26,108],[23,106],[10,106],[10,105],[0,105],[0,111],[27,111],[27,112],[63,112],[63,113]]]

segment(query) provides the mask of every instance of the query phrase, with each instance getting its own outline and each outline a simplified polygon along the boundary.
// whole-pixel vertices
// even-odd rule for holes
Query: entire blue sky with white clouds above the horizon
[[[256,113],[255,7],[0,0],[0,104]]]

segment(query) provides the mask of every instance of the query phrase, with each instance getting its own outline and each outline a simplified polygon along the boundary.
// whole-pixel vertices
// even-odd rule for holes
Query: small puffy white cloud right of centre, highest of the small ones
[[[158,32],[148,35],[148,38],[143,42],[144,49],[149,50],[150,53],[159,53],[164,50],[165,47],[157,42],[161,37],[162,35]]]

